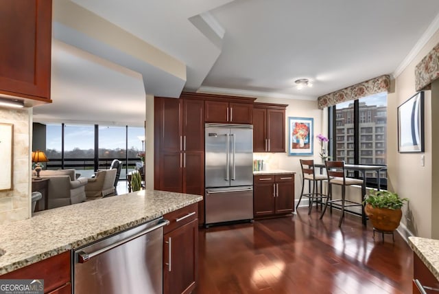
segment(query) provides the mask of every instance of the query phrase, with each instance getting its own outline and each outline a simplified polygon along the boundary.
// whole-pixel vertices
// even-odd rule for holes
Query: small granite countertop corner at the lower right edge
[[[439,280],[439,240],[409,237],[409,244],[420,260]]]

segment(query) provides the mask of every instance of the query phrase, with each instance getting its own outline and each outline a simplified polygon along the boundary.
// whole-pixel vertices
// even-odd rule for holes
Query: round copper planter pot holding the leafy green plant
[[[394,231],[399,227],[399,222],[403,216],[401,209],[374,208],[369,203],[364,207],[364,212],[366,212],[373,227],[379,231]]]

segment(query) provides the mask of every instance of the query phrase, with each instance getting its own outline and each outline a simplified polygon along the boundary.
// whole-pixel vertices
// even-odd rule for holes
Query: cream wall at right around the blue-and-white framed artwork
[[[434,215],[439,212],[439,160],[434,150],[439,144],[433,138],[439,135],[436,126],[438,118],[433,117],[439,106],[432,103],[432,91],[425,91],[425,152],[399,153],[397,133],[397,107],[416,93],[414,70],[424,56],[439,42],[439,31],[431,37],[420,53],[405,70],[396,77],[395,93],[388,95],[388,179],[389,189],[407,197],[410,203],[403,207],[401,223],[407,227],[409,235],[425,238],[439,238],[439,221]],[[436,84],[435,82],[434,84]],[[436,89],[439,87],[436,84]],[[434,108],[433,108],[434,107]],[[435,111],[436,110],[436,111]],[[436,122],[436,124],[433,124]],[[435,139],[437,141],[438,139]],[[436,148],[435,148],[436,147]],[[420,165],[420,156],[425,156],[425,166]]]

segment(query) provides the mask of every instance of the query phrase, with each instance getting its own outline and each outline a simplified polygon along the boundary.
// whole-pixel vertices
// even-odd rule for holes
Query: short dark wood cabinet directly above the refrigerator
[[[251,124],[252,103],[206,100],[206,122],[223,124]]]

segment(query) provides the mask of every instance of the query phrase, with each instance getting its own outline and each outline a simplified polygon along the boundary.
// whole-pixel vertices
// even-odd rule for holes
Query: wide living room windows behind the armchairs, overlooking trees
[[[112,160],[123,166],[119,179],[142,166],[145,128],[75,124],[46,125],[48,169],[74,168],[81,177],[110,168]]]

